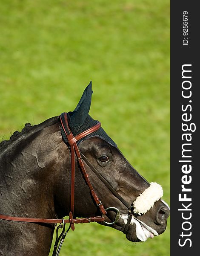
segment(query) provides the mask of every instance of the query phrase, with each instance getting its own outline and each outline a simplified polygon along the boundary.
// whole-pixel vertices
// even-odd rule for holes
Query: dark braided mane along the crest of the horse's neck
[[[40,123],[39,125],[31,125],[30,123],[26,123],[25,127],[22,129],[22,131],[14,131],[14,133],[11,135],[9,140],[3,140],[0,142],[0,152],[5,150],[11,143],[13,143],[15,140],[19,139],[23,135],[29,134],[29,132],[34,131],[36,128],[44,128],[46,126],[51,125],[50,121],[57,120],[58,116],[51,117],[47,119],[46,121]]]

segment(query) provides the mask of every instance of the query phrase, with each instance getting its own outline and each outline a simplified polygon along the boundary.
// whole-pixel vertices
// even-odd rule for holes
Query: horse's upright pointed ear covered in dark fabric
[[[73,125],[73,127],[78,127],[85,122],[85,119],[88,116],[90,110],[92,93],[93,91],[91,90],[90,81],[89,85],[84,90],[77,107],[73,112],[69,112],[70,123]]]

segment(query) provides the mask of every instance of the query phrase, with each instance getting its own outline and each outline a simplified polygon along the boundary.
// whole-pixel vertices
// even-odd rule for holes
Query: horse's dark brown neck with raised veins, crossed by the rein
[[[12,150],[6,151],[1,158],[0,214],[56,218],[54,191],[59,177],[62,146],[57,122],[31,133],[30,136],[26,136],[26,140],[18,140]],[[58,168],[55,169],[57,164]],[[48,255],[52,230],[53,226],[0,220],[0,235],[5,240],[1,242],[3,248],[0,246],[0,251],[5,255],[12,250],[16,253],[13,255],[27,255],[28,251],[33,250],[34,255],[40,255],[41,247],[40,253],[37,251],[39,249],[34,248],[38,248],[39,244],[45,244],[42,255]],[[19,254],[16,250],[19,250]]]

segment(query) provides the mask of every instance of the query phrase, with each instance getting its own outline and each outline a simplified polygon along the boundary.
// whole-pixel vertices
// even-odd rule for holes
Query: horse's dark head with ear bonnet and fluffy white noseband
[[[67,114],[69,128],[74,137],[97,124],[97,121],[89,116],[91,95],[90,83],[77,107]],[[61,134],[63,144],[65,142],[68,145],[63,128],[61,128]],[[77,140],[77,145],[86,163],[89,180],[101,199],[100,203],[102,202],[106,208],[105,221],[100,224],[122,231],[127,239],[134,242],[146,241],[163,233],[169,217],[169,206],[161,199],[162,187],[153,182],[149,184],[130,165],[103,128]],[[74,214],[77,217],[100,215],[100,210],[79,169],[80,167],[76,164]],[[109,185],[105,186],[104,181]],[[63,198],[59,203],[59,208],[65,209],[61,215],[68,215],[70,211],[69,194],[68,191],[64,200],[68,203],[64,203],[64,207],[61,206]],[[59,197],[57,200],[60,201]]]

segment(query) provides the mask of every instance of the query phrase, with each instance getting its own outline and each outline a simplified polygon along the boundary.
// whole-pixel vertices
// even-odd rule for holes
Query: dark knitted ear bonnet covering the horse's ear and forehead
[[[91,105],[92,93],[93,91],[91,90],[91,81],[90,81],[89,85],[84,90],[83,95],[77,107],[74,109],[73,112],[68,112],[67,114],[69,128],[72,134],[74,135],[74,137],[97,124],[97,120],[94,120],[88,114],[90,110],[90,105]],[[67,138],[63,131],[63,128],[61,128],[61,134],[64,140],[66,141]],[[102,140],[105,140],[110,145],[117,147],[114,141],[108,136],[108,134],[106,134],[106,132],[101,127],[97,131],[94,131],[92,134],[89,134],[86,137],[83,137],[81,140],[77,141],[77,144],[91,137],[98,137]]]

